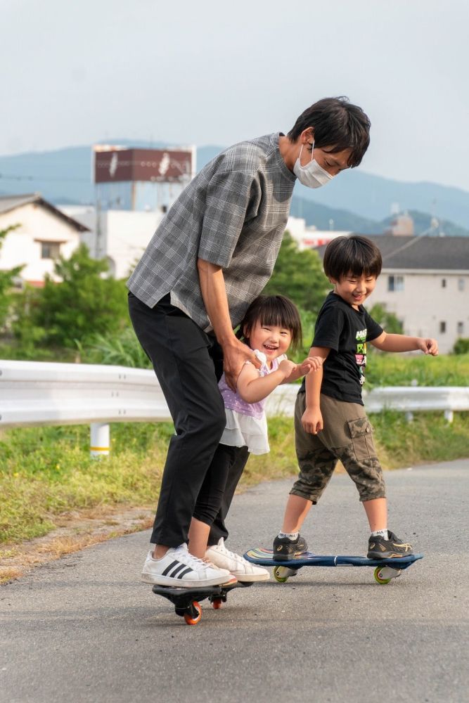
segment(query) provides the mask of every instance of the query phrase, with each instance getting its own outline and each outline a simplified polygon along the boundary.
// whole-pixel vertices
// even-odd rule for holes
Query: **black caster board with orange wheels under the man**
[[[171,586],[158,586],[152,588],[153,593],[162,595],[174,605],[174,612],[184,617],[187,625],[196,625],[202,617],[200,600],[208,598],[214,610],[219,610],[229,591],[240,586],[252,586],[251,582],[233,581],[222,583],[221,586],[198,586],[195,588],[172,588]]]

